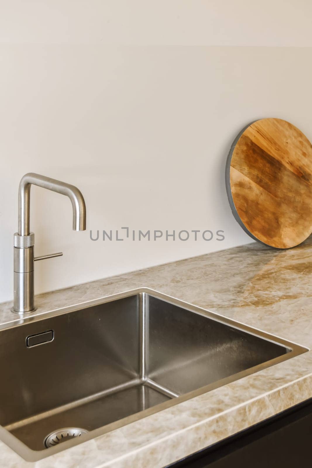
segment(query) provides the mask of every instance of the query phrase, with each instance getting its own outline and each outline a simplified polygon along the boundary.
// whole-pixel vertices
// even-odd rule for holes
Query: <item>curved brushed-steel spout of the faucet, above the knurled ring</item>
[[[41,176],[29,172],[22,177],[18,190],[18,234],[29,235],[29,208],[30,188],[37,185],[47,190],[60,193],[69,197],[73,206],[73,230],[84,231],[86,229],[86,205],[85,200],[77,187],[69,183],[61,182],[51,177]]]

